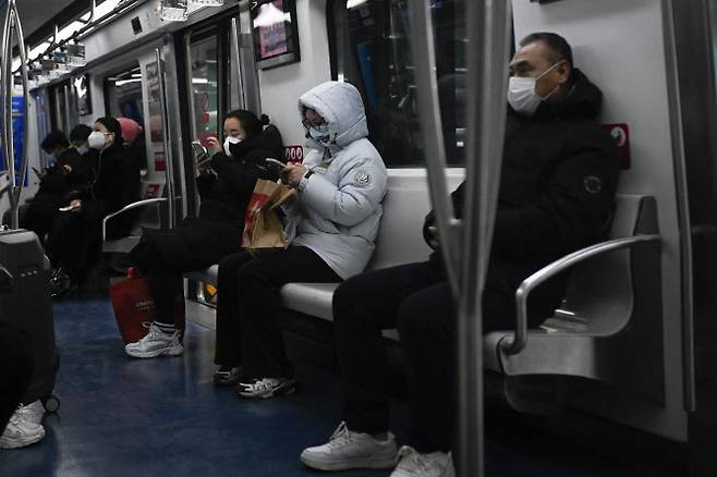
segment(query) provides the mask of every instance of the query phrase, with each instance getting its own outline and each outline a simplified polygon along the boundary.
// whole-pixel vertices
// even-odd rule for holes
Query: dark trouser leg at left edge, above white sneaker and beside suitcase
[[[0,433],[29,387],[34,367],[29,337],[0,323]]]

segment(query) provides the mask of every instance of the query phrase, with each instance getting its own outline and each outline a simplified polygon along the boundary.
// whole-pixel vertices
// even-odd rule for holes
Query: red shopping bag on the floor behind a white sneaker
[[[149,325],[157,317],[155,301],[149,292],[146,278],[137,278],[133,268],[127,269],[127,278],[110,286],[110,299],[114,308],[117,326],[125,343],[142,340],[149,331]],[[184,335],[184,296],[178,294],[174,306],[174,326]]]

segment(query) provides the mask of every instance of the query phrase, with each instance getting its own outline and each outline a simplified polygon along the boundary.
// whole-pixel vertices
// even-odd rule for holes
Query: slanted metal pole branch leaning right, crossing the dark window
[[[428,191],[436,215],[440,252],[451,291],[455,298],[460,293],[460,229],[453,203],[448,197],[446,185],[446,148],[438,105],[436,80],[436,52],[434,51],[433,19],[430,4],[425,0],[409,2],[411,16],[411,47],[414,52],[425,53],[424,61],[414,61],[415,81],[418,88],[418,117],[425,137]]]

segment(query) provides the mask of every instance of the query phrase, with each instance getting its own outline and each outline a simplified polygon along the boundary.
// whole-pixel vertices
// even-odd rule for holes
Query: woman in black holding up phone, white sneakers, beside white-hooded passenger
[[[281,134],[251,111],[238,110],[224,119],[223,146],[208,139],[211,161],[198,158],[197,187],[202,196],[199,217],[187,217],[174,230],[143,237],[130,254],[149,280],[157,318],[149,333],[126,345],[133,357],[180,355],[182,344],[174,327],[174,303],[182,293],[182,273],[217,264],[241,249],[246,206],[257,179],[276,181],[278,170],[266,158],[283,158]]]

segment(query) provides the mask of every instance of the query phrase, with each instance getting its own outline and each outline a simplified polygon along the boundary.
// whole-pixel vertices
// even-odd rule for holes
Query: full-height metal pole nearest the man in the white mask
[[[469,108],[463,270],[458,321],[459,475],[484,475],[483,290],[500,185],[510,2],[467,2]]]

